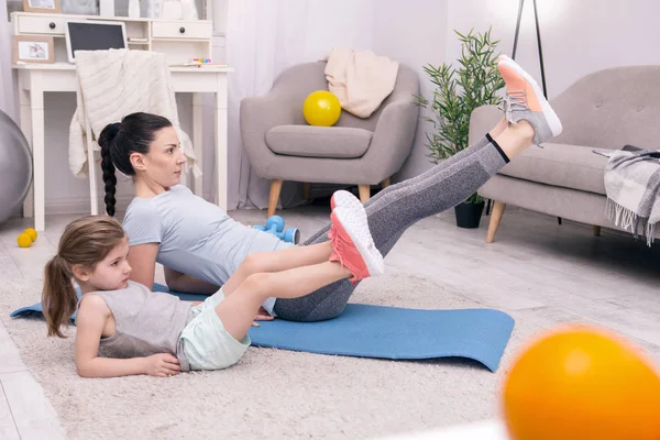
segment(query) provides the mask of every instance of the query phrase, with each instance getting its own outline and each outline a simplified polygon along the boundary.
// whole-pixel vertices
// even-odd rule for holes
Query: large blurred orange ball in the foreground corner
[[[562,327],[517,359],[503,410],[513,440],[658,440],[660,375],[605,330]]]

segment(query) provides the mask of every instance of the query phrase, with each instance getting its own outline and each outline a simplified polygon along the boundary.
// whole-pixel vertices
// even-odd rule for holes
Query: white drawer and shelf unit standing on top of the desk
[[[65,26],[68,20],[124,22],[131,51],[162,52],[167,56],[168,64],[183,64],[190,58],[211,58],[213,23],[210,20],[131,19],[32,12],[11,14],[14,35],[54,37],[55,63],[68,63],[65,42]],[[132,42],[131,38],[145,41]]]

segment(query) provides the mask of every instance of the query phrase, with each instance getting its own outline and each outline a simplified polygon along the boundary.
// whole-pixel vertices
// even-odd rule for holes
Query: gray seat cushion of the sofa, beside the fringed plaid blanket
[[[543,142],[527,148],[499,170],[510,177],[605,195],[607,157],[594,147]]]

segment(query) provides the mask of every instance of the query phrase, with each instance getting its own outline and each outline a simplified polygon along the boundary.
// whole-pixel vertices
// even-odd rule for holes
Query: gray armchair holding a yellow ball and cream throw
[[[305,183],[306,197],[315,183],[358,185],[365,201],[371,185],[387,186],[410,153],[419,114],[415,70],[399,64],[393,92],[370,118],[342,111],[333,127],[312,127],[302,102],[310,92],[328,89],[324,68],[324,62],[290,67],[268,94],[241,101],[243,145],[255,173],[271,180],[268,216],[284,180]]]

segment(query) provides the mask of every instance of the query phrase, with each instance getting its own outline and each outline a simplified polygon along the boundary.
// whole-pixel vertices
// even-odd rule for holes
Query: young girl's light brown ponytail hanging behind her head
[[[66,338],[61,327],[67,326],[72,315],[76,311],[78,296],[74,289],[72,274],[66,262],[59,255],[55,255],[46,263],[42,304],[48,324],[48,336]]]

